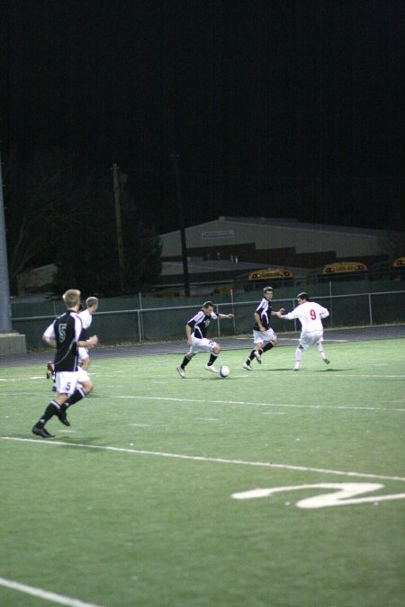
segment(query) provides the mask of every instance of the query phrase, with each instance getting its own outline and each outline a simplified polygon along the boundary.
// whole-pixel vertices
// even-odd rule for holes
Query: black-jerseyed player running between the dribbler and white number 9
[[[278,313],[272,310],[273,287],[265,287],[263,298],[256,308],[254,314],[255,324],[253,325],[253,343],[254,349],[247,357],[247,362],[243,364],[246,370],[252,370],[252,361],[256,358],[259,364],[262,363],[262,354],[271,350],[277,344],[277,335],[270,326],[270,317],[277,316]],[[279,312],[284,312],[280,308]]]

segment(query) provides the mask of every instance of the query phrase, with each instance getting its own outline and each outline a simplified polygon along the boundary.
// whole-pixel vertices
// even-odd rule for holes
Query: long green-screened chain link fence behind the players
[[[324,320],[325,328],[342,326],[374,326],[405,322],[405,290],[361,292],[341,295],[322,295],[313,297],[329,309],[329,318]],[[215,311],[221,314],[233,312],[233,320],[218,319],[209,330],[211,337],[250,335],[253,327],[253,314],[259,299],[244,301],[222,301],[215,304]],[[130,304],[130,305],[129,305]],[[202,302],[193,305],[142,307],[139,296],[131,299],[113,299],[108,303],[101,300],[100,311],[94,314],[89,333],[99,336],[100,343],[142,344],[143,342],[184,340],[185,324],[202,307]],[[273,299],[276,311],[293,309],[297,304],[295,297]],[[27,348],[38,350],[44,347],[42,334],[45,328],[58,314],[62,314],[62,302],[41,302],[25,304],[25,316],[13,317],[14,330],[25,335]],[[17,311],[16,309],[14,311]],[[21,310],[20,310],[21,311]],[[275,332],[282,334],[291,331],[292,322],[272,317],[271,325]],[[295,325],[298,330],[298,326]]]

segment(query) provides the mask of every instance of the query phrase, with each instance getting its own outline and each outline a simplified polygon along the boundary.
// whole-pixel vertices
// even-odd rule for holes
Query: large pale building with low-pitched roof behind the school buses
[[[220,217],[185,228],[190,260],[228,260],[315,268],[336,260],[374,263],[405,244],[405,232],[302,223],[295,219]],[[161,235],[162,261],[181,259],[180,231]],[[402,254],[399,252],[398,254]]]

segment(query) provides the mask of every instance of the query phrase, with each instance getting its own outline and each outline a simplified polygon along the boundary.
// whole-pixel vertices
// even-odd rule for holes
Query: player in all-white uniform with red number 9
[[[299,293],[297,295],[298,306],[293,309],[292,312],[284,314],[277,312],[277,316],[284,318],[285,320],[294,320],[297,318],[301,322],[302,330],[300,335],[300,341],[295,351],[295,366],[294,370],[300,370],[300,363],[302,359],[302,351],[308,350],[310,345],[315,345],[320,358],[326,364],[329,364],[329,358],[323,349],[323,325],[322,318],[329,317],[329,310],[323,308],[316,301],[310,301],[308,293]]]

